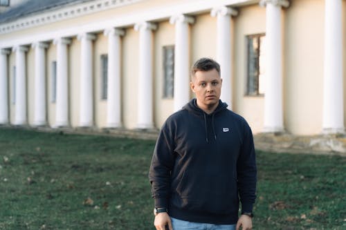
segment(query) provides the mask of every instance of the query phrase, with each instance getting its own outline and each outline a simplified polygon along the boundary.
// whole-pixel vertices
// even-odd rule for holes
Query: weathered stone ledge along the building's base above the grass
[[[156,140],[159,130],[126,129],[126,128],[95,128],[95,127],[60,127],[49,126],[11,126],[0,128],[21,128],[49,133],[69,133],[81,135],[104,135],[127,137],[140,140]],[[324,155],[346,156],[346,135],[309,135],[297,136],[289,133],[259,133],[254,135],[255,148],[276,153],[313,153]]]

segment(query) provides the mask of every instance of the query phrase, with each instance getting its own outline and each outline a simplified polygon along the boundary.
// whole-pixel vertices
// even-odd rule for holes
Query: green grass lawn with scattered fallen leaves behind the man
[[[154,229],[154,141],[0,128],[0,229]],[[257,151],[254,229],[346,229],[346,157]]]

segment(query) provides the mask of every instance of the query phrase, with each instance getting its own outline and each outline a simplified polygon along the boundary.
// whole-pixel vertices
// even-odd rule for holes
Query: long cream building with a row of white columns
[[[344,133],[345,12],[342,0],[23,1],[0,14],[0,124],[160,128],[193,97],[190,66],[212,57],[221,99],[254,133]]]

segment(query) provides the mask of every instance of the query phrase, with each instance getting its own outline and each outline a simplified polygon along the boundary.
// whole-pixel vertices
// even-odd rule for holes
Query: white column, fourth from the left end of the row
[[[57,45],[57,99],[55,103],[55,126],[69,126],[69,89],[67,45],[70,39],[55,39]]]

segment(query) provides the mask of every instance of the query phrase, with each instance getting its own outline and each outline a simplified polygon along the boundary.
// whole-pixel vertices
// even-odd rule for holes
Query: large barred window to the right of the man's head
[[[248,77],[246,95],[264,95],[265,81],[265,46],[266,36],[250,35],[247,37],[248,46]]]

